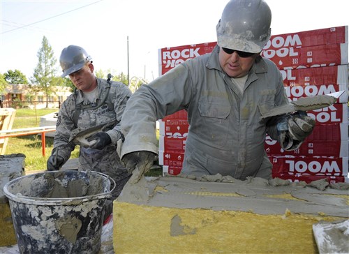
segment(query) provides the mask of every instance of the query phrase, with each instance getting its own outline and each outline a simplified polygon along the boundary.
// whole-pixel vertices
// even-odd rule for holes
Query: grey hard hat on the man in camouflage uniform
[[[63,71],[61,77],[66,77],[66,75],[80,70],[91,59],[92,57],[82,47],[75,45],[65,47],[61,52],[61,57],[59,57],[59,63]]]

